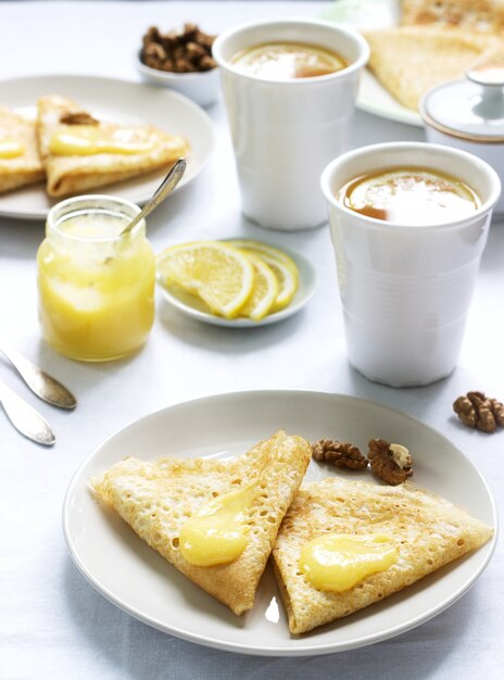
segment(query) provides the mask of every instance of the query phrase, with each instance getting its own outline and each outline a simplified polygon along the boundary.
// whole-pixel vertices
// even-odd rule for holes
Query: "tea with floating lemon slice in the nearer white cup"
[[[355,177],[337,198],[361,215],[405,226],[459,219],[481,205],[464,181],[425,167],[395,167]]]

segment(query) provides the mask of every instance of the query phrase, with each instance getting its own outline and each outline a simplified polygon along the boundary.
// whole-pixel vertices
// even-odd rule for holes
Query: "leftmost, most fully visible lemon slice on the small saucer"
[[[156,257],[163,285],[179,286],[205,302],[214,314],[235,318],[252,293],[251,260],[222,241],[172,245]]]

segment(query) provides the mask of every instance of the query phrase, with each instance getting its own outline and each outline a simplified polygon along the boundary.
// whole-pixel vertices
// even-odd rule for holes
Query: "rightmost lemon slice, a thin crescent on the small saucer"
[[[278,250],[278,248],[262,243],[261,241],[236,239],[228,242],[247,253],[260,255],[276,275],[278,279],[278,293],[275,303],[269,310],[269,314],[279,312],[286,307],[294,297],[299,285],[299,272],[292,257],[289,257],[289,255]]]

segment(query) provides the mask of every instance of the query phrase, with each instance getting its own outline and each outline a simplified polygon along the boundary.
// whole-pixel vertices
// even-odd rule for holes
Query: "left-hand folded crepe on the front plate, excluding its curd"
[[[232,461],[126,458],[91,480],[91,487],[151,547],[239,615],[253,606],[278,528],[310,458],[304,439],[279,431]],[[228,564],[189,564],[179,550],[185,522],[215,496],[251,482],[257,482],[260,494],[247,511],[248,543],[241,555]]]

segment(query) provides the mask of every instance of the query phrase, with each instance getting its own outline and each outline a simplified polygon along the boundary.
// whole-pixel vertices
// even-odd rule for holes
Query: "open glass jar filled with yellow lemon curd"
[[[42,335],[58,352],[87,362],[140,348],[154,320],[155,263],[140,212],[123,199],[84,196],[54,205],[37,253]]]

